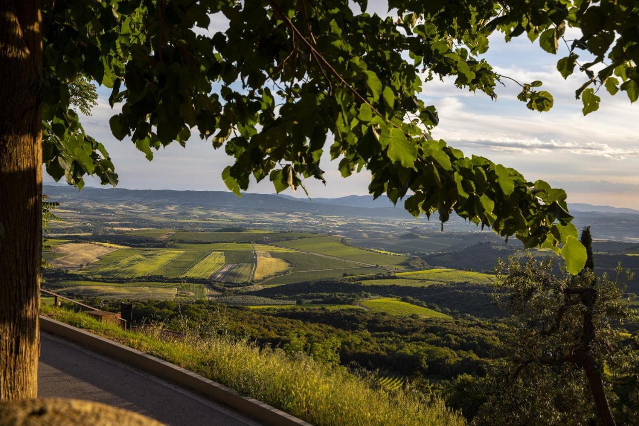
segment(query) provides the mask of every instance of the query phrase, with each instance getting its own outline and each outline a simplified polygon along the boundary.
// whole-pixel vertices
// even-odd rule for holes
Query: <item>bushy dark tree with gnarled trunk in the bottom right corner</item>
[[[622,269],[610,278],[590,268],[557,276],[550,258],[532,256],[499,268],[509,357],[485,381],[494,391],[477,423],[636,423],[639,363],[636,338],[622,333],[631,317]]]

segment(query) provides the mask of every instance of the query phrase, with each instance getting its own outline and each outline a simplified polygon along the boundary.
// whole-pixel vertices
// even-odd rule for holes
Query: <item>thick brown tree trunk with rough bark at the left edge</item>
[[[38,393],[40,0],[0,1],[0,400]]]

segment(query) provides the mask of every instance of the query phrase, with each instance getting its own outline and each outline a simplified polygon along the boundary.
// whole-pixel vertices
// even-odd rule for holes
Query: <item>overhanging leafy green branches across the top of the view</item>
[[[337,0],[47,3],[47,171],[79,187],[85,175],[117,182],[104,145],[69,108],[72,83],[86,75],[111,88],[112,134],[130,138],[147,159],[195,133],[235,158],[222,171],[233,192],[247,189],[251,175],[281,192],[303,188],[304,178],[323,180],[319,160],[332,140],[328,149],[341,159],[344,177],[371,171],[373,196],[404,200],[414,216],[437,212],[442,222],[456,212],[527,247],[551,247],[569,271],[580,271],[583,247],[566,193],[433,140],[439,118],[421,96],[423,84],[449,77],[495,99],[505,76],[481,59],[491,33],[507,40],[526,34],[557,53],[566,28],[575,27],[583,37],[568,45],[558,70],[567,77],[577,68],[587,77],[576,92],[584,113],[597,109],[601,85],[634,101],[636,1],[390,0],[398,19],[366,13],[366,0],[356,3],[361,13]],[[227,28],[209,31],[212,19],[227,20]],[[581,63],[579,50],[596,58]],[[595,73],[599,64],[605,67]],[[542,84],[520,83],[518,98],[534,111],[553,104]]]

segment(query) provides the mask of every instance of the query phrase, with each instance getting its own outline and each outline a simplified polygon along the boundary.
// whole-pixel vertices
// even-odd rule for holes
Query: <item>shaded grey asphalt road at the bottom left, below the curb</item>
[[[40,333],[38,397],[90,400],[128,409],[167,425],[260,425],[158,377]]]

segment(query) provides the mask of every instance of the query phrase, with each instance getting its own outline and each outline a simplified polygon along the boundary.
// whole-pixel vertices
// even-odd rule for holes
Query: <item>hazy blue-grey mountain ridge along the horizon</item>
[[[225,191],[173,191],[142,189],[101,189],[85,187],[82,191],[69,186],[44,185],[43,193],[52,201],[79,201],[105,204],[148,203],[155,208],[167,206],[203,207],[211,210],[242,214],[299,214],[302,216],[337,216],[344,218],[375,217],[378,219],[412,219],[398,202],[394,207],[386,196],[373,200],[372,196],[350,195],[340,198],[296,198],[289,195],[242,194],[238,198]],[[619,207],[569,204],[574,225],[580,229],[592,226],[596,239],[639,241],[639,210]],[[321,219],[320,219],[321,220]],[[437,221],[437,215],[431,217]],[[451,216],[445,225],[450,232],[473,232],[477,226]]]

